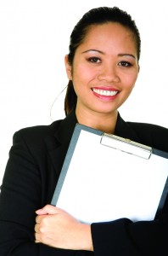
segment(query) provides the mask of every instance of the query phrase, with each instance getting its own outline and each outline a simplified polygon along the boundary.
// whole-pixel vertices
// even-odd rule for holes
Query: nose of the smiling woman
[[[119,82],[120,77],[119,77],[119,74],[117,73],[117,67],[106,65],[99,72],[98,79],[100,81],[105,80],[106,82],[115,82],[115,83]]]

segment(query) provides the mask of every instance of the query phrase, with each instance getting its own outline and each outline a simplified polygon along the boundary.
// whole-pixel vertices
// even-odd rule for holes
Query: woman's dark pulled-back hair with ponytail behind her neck
[[[108,22],[117,22],[132,31],[137,46],[137,60],[140,58],[141,39],[135,21],[131,15],[117,7],[99,7],[88,11],[81,20],[76,24],[70,35],[70,46],[68,61],[70,66],[73,64],[77,47],[83,42],[87,35],[87,31],[92,25],[99,25]],[[66,96],[64,99],[64,112],[67,115],[73,108],[76,108],[77,96],[72,81],[67,86]]]

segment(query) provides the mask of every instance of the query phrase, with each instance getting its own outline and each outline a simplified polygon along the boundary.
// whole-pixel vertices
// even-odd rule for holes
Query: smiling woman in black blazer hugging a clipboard
[[[76,123],[168,152],[168,130],[118,113],[139,72],[140,36],[130,15],[92,9],[70,37],[66,118],[14,134],[0,196],[0,255],[166,255],[168,202],[159,219],[81,224],[50,205]],[[101,205],[100,205],[101,207]]]

